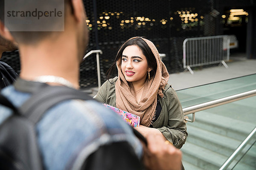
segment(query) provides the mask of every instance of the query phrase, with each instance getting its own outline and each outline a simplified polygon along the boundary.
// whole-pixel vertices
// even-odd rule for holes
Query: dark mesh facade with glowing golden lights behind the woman
[[[223,34],[221,15],[230,4],[255,6],[250,0],[84,0],[90,30],[87,52],[103,51],[102,83],[120,45],[134,36],[151,40],[159,53],[166,54],[163,62],[169,73],[183,71],[183,40]],[[17,52],[5,53],[1,60],[20,72]],[[84,60],[80,73],[81,88],[97,86],[95,54]]]

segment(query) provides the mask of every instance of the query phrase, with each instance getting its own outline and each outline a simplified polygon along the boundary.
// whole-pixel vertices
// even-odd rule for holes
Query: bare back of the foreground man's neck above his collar
[[[72,38],[71,38],[72,39]],[[74,43],[72,43],[74,42]],[[20,77],[34,80],[53,75],[70,81],[79,88],[79,61],[75,41],[46,40],[38,45],[20,45]]]

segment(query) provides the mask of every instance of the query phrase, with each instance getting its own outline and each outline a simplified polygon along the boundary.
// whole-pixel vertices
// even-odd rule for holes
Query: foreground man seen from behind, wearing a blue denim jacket
[[[32,2],[40,0],[28,0],[29,6],[20,1],[15,0],[15,6],[32,11],[35,9]],[[54,5],[51,1],[40,2],[41,10],[47,11],[52,6],[57,8],[63,0],[55,0]],[[1,92],[16,107],[29,99],[38,82],[79,89],[79,65],[88,43],[86,14],[82,0],[65,0],[64,4],[64,31],[26,31],[31,29],[29,24],[22,31],[13,31],[17,27],[5,28],[3,15],[0,16],[0,35],[15,40],[20,49],[20,79]],[[51,22],[49,12],[44,15],[40,24],[47,25],[47,29],[56,30],[63,22],[61,19]],[[7,111],[2,107],[4,110]],[[3,114],[0,119],[4,119]],[[67,100],[55,105],[44,113],[36,130],[46,170],[143,167],[180,170],[181,167],[179,150],[151,135],[147,136],[148,146],[145,146],[116,113],[94,100]]]

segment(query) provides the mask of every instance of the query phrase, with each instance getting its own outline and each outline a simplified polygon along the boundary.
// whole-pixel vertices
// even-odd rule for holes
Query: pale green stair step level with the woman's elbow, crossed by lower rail
[[[236,148],[241,144],[241,141],[223,136],[217,133],[213,133],[192,125],[187,126],[187,132],[189,134],[188,141],[197,144],[201,147],[212,150],[216,153],[220,153],[224,156],[231,156]],[[250,144],[244,149],[250,147]],[[256,166],[256,146],[250,148],[247,154],[244,156],[243,162],[250,166]]]

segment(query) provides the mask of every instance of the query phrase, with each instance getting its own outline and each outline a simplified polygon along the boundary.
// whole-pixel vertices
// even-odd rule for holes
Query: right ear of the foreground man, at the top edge
[[[73,6],[73,15],[78,22],[84,20],[84,4],[82,0],[71,0]]]

